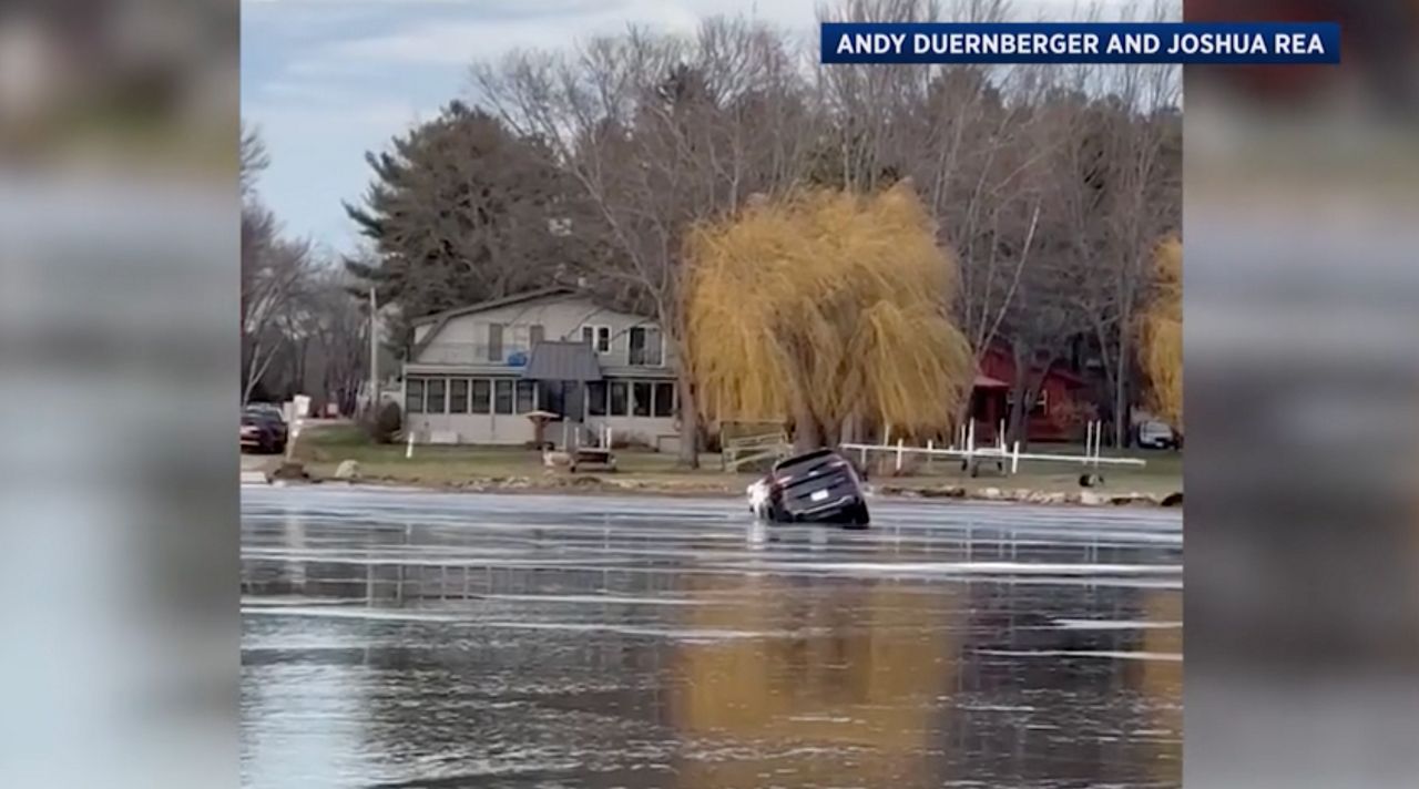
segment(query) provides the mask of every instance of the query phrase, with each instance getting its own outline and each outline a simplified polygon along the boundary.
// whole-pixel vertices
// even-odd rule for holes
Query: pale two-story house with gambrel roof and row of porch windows
[[[660,326],[546,288],[430,315],[403,365],[404,423],[417,441],[526,444],[545,438],[678,446],[675,365]]]

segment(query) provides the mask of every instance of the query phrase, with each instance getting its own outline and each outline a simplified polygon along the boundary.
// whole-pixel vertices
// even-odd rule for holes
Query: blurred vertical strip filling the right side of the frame
[[[1186,785],[1419,780],[1419,4],[1185,77]]]

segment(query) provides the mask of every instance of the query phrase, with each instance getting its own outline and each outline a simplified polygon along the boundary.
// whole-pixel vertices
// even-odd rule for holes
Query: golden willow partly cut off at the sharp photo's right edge
[[[1182,433],[1182,241],[1164,240],[1154,265],[1156,291],[1138,326],[1139,362],[1149,409]]]

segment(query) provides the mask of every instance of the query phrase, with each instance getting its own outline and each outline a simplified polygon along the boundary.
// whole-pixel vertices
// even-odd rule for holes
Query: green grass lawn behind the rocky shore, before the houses
[[[356,460],[360,473],[369,480],[403,482],[414,485],[447,485],[474,478],[525,477],[542,478],[548,470],[542,465],[541,453],[522,447],[436,447],[416,446],[414,457],[404,457],[404,444],[373,444],[356,426],[322,426],[301,436],[295,446],[295,457],[318,477],[331,477],[342,460]],[[1030,448],[1040,454],[1084,454],[1083,446],[1037,444]],[[1145,468],[1101,467],[1104,477],[1100,488],[1107,492],[1141,492],[1166,495],[1182,490],[1182,454],[1175,451],[1131,451],[1127,457],[1141,457],[1148,461]],[[1110,457],[1105,453],[1104,457]],[[727,474],[719,470],[719,456],[701,456],[698,471],[678,468],[674,454],[648,450],[619,450],[616,453],[616,477],[646,482],[650,487],[664,484],[667,488],[738,492],[755,478],[755,474]],[[891,465],[890,460],[885,463]],[[1063,463],[1020,463],[1020,473],[1005,475],[993,465],[985,465],[978,477],[969,477],[961,470],[959,461],[945,458],[928,465],[918,461],[905,475],[877,473],[873,481],[898,488],[929,488],[959,485],[966,490],[1002,488],[1032,490],[1047,492],[1078,491],[1080,474],[1088,471],[1081,465]],[[565,471],[562,471],[565,474]],[[580,474],[579,474],[580,475]],[[587,470],[587,477],[604,475],[603,471]]]

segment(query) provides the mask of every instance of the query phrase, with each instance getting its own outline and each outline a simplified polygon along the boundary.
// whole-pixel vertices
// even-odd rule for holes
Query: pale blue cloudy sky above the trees
[[[359,237],[341,202],[365,193],[365,153],[470,98],[473,62],[575,47],[627,24],[688,33],[715,14],[810,35],[817,1],[241,0],[241,115],[271,158],[257,189],[288,234],[349,253]],[[1074,1],[1017,6],[1064,18]]]

